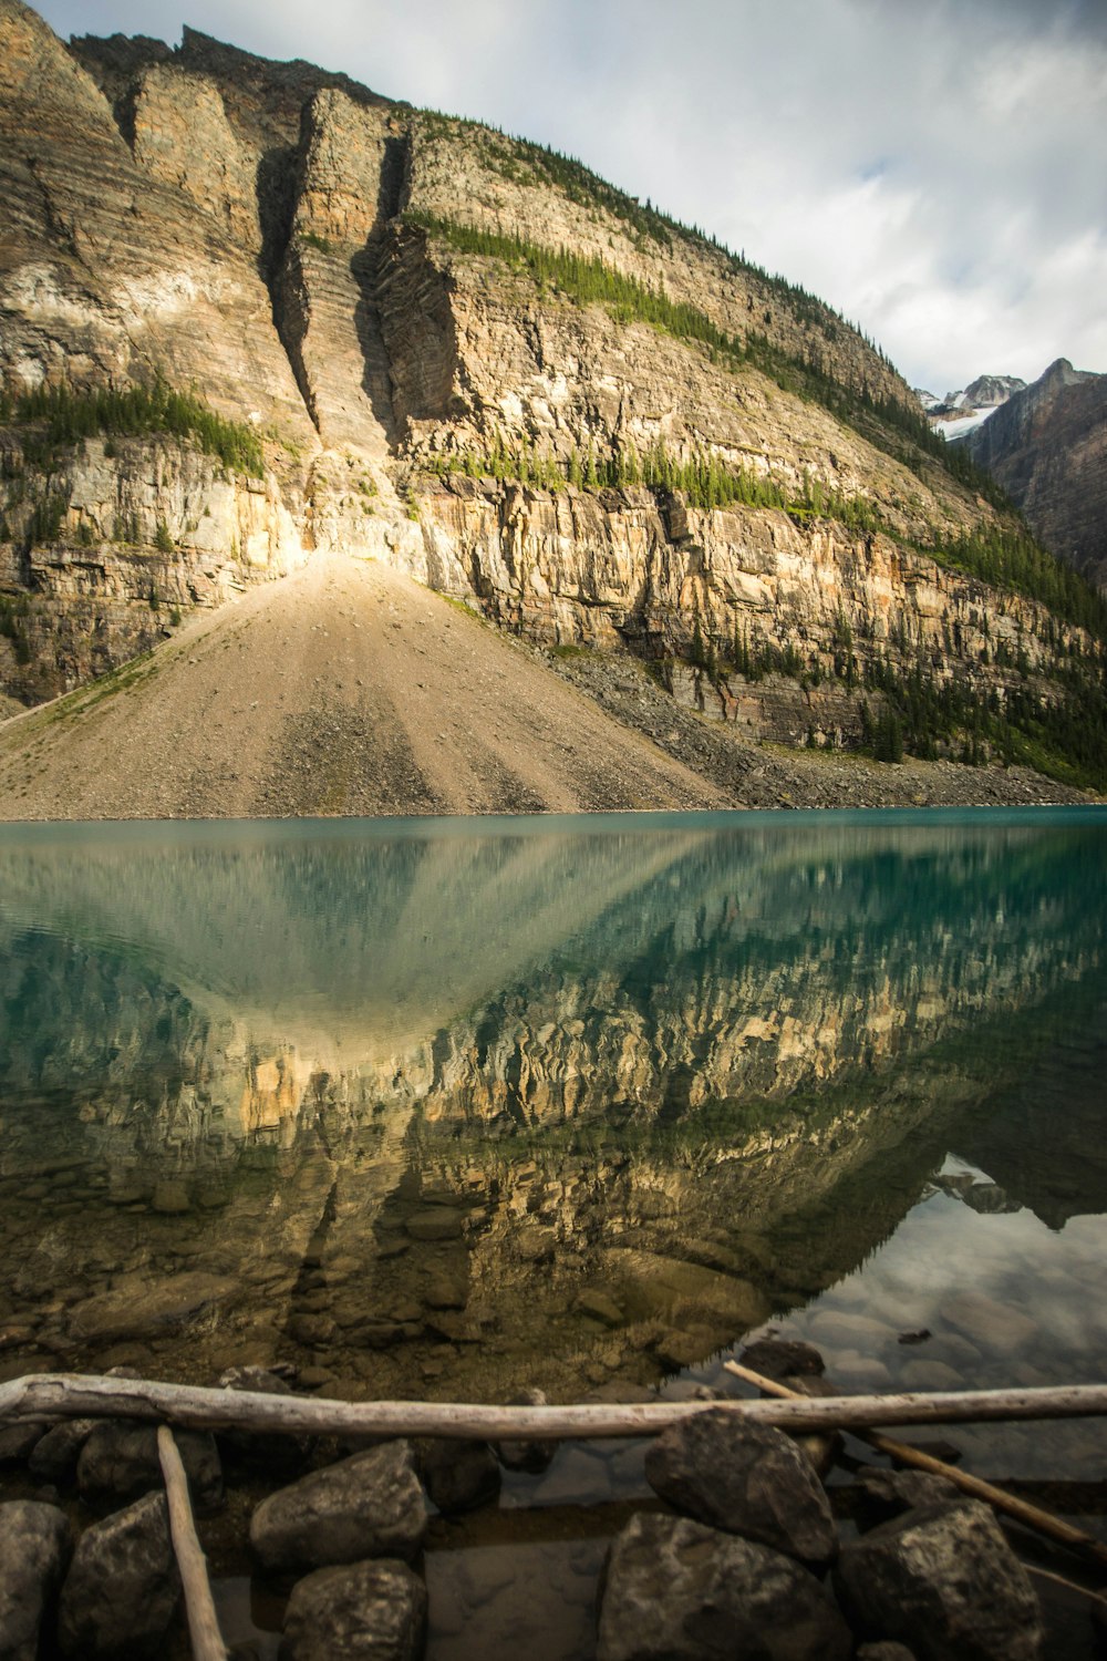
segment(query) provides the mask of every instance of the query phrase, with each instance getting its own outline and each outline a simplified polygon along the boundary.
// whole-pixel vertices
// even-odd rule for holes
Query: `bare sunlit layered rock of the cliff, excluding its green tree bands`
[[[66,47],[20,0],[0,3],[0,47],[3,389],[159,374],[264,445],[262,477],[246,480],[168,434],[111,453],[93,439],[46,480],[23,467],[20,430],[0,430],[0,588],[25,606],[18,648],[0,633],[7,698],[85,684],[163,639],[176,613],[314,550],[387,561],[546,644],[687,659],[694,620],[727,648],[790,643],[817,684],[833,681],[846,630],[858,676],[885,656],[906,674],[924,653],[983,696],[1016,684],[1001,646],[1036,669],[1067,651],[1074,631],[1061,625],[1057,644],[1044,608],[905,546],[994,515],[903,434],[881,437],[876,405],[913,410],[914,397],[815,297],[584,169],[563,176],[539,149],[345,75],[194,30],[179,48]],[[755,359],[812,364],[873,407],[846,420],[753,360],[574,304],[518,261],[465,252],[443,221],[599,259]],[[450,457],[480,472],[523,445],[568,475],[574,452],[657,443],[710,450],[785,497],[817,485],[865,500],[890,533],[704,513],[636,485],[436,475]],[[65,510],[35,540],[46,488]],[[808,688],[695,676],[674,691],[755,736],[803,742],[812,723],[858,736],[856,709],[807,701]]]

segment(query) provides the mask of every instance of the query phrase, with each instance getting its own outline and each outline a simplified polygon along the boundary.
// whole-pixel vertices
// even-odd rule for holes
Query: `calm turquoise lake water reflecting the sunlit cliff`
[[[850,1390],[1102,1379],[1105,917],[1095,809],[3,827],[0,1375],[680,1394],[772,1325]],[[637,1492],[510,1478],[432,1654],[588,1654],[604,1531],[521,1513]]]

